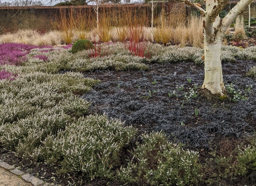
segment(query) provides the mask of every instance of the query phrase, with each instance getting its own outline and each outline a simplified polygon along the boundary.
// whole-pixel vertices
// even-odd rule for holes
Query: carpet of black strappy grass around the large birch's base
[[[248,84],[255,87],[255,80],[238,70],[255,64],[248,63],[224,64],[224,81],[230,83],[235,79],[236,89],[245,89]],[[203,78],[203,68],[189,62],[175,66],[153,64],[146,71],[99,71],[86,73],[86,76],[103,80],[83,96],[92,103],[92,113],[106,113],[142,132],[164,131],[170,141],[183,143],[189,149],[211,151],[215,136],[237,139],[253,134],[256,128],[253,88],[246,93],[248,100],[236,102],[230,99],[208,101],[202,97],[184,99],[189,88],[192,89],[195,83],[202,84]],[[115,81],[115,77],[120,78]],[[192,82],[188,82],[188,78]],[[157,83],[152,84],[155,80]],[[183,90],[176,88],[180,85],[184,85]],[[174,90],[176,96],[168,96]],[[194,114],[195,108],[200,111],[198,116]]]

